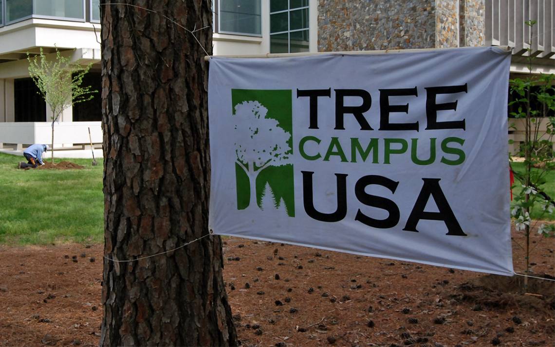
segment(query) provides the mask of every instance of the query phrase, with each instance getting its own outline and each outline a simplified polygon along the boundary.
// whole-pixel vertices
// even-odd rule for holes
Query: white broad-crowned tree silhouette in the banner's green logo
[[[289,164],[291,134],[278,126],[278,121],[266,118],[268,109],[258,101],[244,101],[235,105],[235,129],[240,134],[235,142],[236,163],[249,177],[249,209],[257,208],[256,177],[268,166]]]

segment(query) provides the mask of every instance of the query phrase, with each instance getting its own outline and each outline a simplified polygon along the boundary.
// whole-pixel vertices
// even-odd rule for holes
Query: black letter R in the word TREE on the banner
[[[345,96],[362,98],[360,106],[345,106]],[[335,89],[335,130],[345,130],[344,116],[352,114],[360,124],[360,130],[372,130],[363,113],[370,110],[372,96],[364,89]]]

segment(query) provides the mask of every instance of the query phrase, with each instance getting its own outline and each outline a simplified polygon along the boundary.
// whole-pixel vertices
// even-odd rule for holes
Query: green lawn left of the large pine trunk
[[[102,242],[103,162],[62,160],[85,169],[18,170],[23,156],[0,153],[0,243]]]

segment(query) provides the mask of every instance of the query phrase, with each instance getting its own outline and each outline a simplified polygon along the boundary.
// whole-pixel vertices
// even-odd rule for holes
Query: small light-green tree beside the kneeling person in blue
[[[39,89],[44,101],[52,111],[52,163],[54,163],[54,124],[58,121],[63,111],[70,105],[81,103],[93,98],[90,86],[82,86],[83,78],[92,66],[71,64],[69,58],[64,57],[56,49],[56,58],[48,60],[43,53],[31,57],[29,60],[29,75]]]

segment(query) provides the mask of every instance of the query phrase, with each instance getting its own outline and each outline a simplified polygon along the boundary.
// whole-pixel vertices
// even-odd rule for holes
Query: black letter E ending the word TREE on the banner
[[[437,129],[463,129],[465,130],[465,119],[454,120],[454,121],[437,121],[437,111],[443,110],[457,110],[458,100],[454,103],[436,104],[437,94],[455,94],[455,93],[468,93],[467,84],[464,85],[448,85],[439,87],[428,87],[426,89],[426,119],[427,126],[426,130],[437,130]]]

